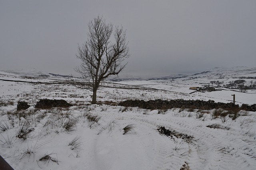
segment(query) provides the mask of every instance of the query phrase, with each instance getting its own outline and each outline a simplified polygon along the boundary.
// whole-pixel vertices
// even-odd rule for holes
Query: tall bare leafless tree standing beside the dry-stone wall
[[[126,31],[123,27],[106,24],[102,16],[91,20],[88,24],[87,41],[78,45],[76,57],[81,60],[75,70],[82,75],[83,82],[76,82],[76,87],[93,92],[92,104],[96,104],[97,90],[100,82],[110,75],[120,73],[126,64],[122,62],[130,56]],[[112,41],[111,41],[112,40]]]

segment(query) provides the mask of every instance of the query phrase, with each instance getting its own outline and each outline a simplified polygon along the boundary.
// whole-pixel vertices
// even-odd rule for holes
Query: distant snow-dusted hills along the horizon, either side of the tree
[[[31,76],[31,77],[71,77],[68,75],[53,74],[46,71],[32,69],[23,69],[23,70],[4,70],[2,72],[7,72],[10,74],[16,74],[20,76]],[[205,70],[199,73],[193,74],[170,74],[169,76],[164,77],[140,77],[134,75],[120,74],[118,76],[112,76],[108,78],[111,81],[126,81],[126,80],[189,80],[197,78],[207,78],[212,79],[256,79],[256,67],[233,67],[233,68],[224,68],[216,67],[209,70]],[[220,80],[216,80],[220,81]]]

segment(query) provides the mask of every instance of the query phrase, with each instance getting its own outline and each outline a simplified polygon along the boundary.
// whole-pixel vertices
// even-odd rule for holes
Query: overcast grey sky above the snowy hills
[[[75,74],[98,15],[126,29],[124,74],[256,66],[256,0],[1,0],[0,70]]]

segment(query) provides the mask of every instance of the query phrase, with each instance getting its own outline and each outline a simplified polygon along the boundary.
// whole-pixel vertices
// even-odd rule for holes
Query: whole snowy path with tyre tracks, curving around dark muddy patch
[[[238,136],[232,127],[230,130],[206,127],[209,122],[195,118],[176,117],[174,114],[144,115],[134,112],[102,112],[104,118],[115,118],[122,122],[136,124],[136,132],[150,132],[147,140],[152,141],[154,159],[151,169],[167,170],[186,167],[190,170],[254,169],[256,154],[254,136]],[[193,119],[194,121],[191,121]],[[181,121],[182,120],[182,121]],[[119,122],[120,122],[119,121]],[[168,138],[156,130],[158,126],[181,134],[193,136],[185,141],[182,138]],[[225,126],[225,125],[224,125]],[[231,126],[226,123],[226,126]],[[141,134],[140,134],[141,135]],[[154,136],[150,138],[150,136]],[[186,163],[185,163],[186,162]]]

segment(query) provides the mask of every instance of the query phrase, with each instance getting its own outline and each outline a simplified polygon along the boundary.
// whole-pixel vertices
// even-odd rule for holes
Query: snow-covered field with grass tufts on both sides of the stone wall
[[[90,91],[68,84],[28,83],[56,82],[58,78],[30,79],[0,72],[0,79],[27,81],[0,80],[0,155],[15,170],[255,170],[256,112],[241,111],[232,120],[213,116],[214,110],[172,108],[161,112],[90,105]],[[232,102],[231,94],[236,94],[236,104],[256,103],[254,90],[189,94],[193,92],[190,86],[211,80],[104,82],[108,87],[98,90],[98,101],[182,98]],[[44,98],[64,99],[74,106],[33,107]],[[18,101],[31,107],[16,112]],[[131,128],[124,134],[126,126]],[[160,134],[158,129],[163,126],[173,135]]]

